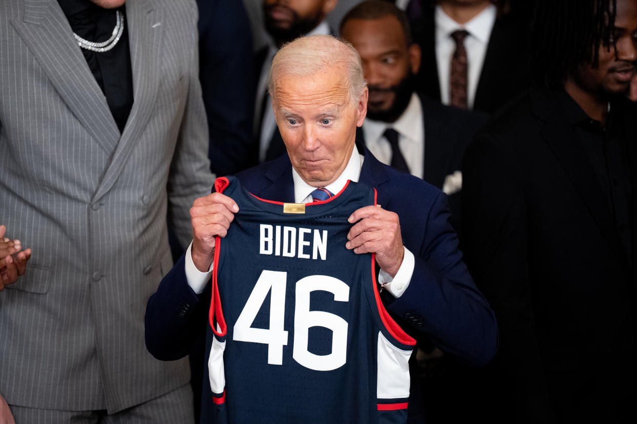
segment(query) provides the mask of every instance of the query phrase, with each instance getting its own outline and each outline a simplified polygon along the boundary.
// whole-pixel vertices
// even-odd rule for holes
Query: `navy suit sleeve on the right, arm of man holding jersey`
[[[496,317],[462,262],[446,199],[440,193],[424,218],[425,237],[415,253],[412,280],[387,309],[445,352],[483,366],[497,350]]]

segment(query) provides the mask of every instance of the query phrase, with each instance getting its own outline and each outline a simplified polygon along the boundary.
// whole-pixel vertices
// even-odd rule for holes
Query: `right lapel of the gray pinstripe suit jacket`
[[[95,202],[111,189],[124,170],[131,149],[140,139],[148,119],[155,110],[154,102],[161,76],[162,14],[148,0],[126,3],[129,45],[131,47],[134,103],[122,139],[104,179],[93,198]]]

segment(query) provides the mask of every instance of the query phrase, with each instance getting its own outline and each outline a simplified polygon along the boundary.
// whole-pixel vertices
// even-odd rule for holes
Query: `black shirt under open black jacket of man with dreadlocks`
[[[569,124],[575,130],[578,140],[592,165],[599,186],[608,200],[608,206],[615,217],[615,226],[626,249],[632,254],[631,240],[631,176],[627,163],[627,135],[621,121],[621,114],[611,109],[606,125],[592,120],[568,93],[557,93]],[[613,103],[615,104],[615,103]],[[619,102],[617,103],[619,106]]]

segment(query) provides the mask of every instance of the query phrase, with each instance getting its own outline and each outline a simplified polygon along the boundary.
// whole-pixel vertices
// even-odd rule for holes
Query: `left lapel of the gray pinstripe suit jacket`
[[[25,0],[22,22],[14,19],[11,25],[72,113],[111,154],[119,140],[117,124],[57,1]]]

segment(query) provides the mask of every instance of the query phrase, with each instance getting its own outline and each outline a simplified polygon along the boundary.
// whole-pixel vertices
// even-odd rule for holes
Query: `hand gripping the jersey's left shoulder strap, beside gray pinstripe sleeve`
[[[207,272],[215,257],[215,236],[225,237],[239,207],[221,193],[200,197],[190,208],[192,221],[192,262]]]

